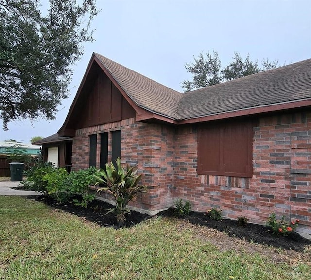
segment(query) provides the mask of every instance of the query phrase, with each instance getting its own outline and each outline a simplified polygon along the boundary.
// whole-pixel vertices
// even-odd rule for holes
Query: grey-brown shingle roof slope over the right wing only
[[[177,119],[311,98],[311,59],[183,95]]]

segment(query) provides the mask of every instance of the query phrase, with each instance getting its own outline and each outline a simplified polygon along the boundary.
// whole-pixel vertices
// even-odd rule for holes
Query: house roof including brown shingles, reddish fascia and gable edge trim
[[[67,118],[58,131],[60,136],[74,135],[70,118],[74,119],[76,106],[86,105],[78,100],[86,84],[94,83],[94,65],[134,108],[137,121],[159,119],[183,124],[311,106],[311,59],[182,94],[93,53]],[[81,118],[80,114],[77,116]]]

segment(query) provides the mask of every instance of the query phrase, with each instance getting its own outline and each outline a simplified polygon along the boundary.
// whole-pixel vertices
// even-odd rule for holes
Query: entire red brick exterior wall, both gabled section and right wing
[[[149,190],[133,207],[155,213],[181,197],[195,211],[217,207],[224,217],[243,215],[258,224],[275,211],[299,219],[299,231],[311,233],[311,112],[262,116],[255,123],[252,178],[197,175],[199,125],[174,127],[135,118],[77,130],[73,169],[88,167],[89,134],[121,129],[121,161],[138,165]],[[108,145],[110,161],[110,133]]]

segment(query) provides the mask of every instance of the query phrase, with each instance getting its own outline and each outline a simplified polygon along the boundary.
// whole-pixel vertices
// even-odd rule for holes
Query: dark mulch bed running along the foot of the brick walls
[[[111,208],[111,205],[108,203],[94,200],[89,204],[89,207],[85,209],[83,207],[75,206],[72,203],[57,203],[46,196],[37,197],[36,200],[42,201],[54,208],[75,214],[79,217],[84,217],[86,220],[94,222],[100,226],[118,228],[115,215],[113,213],[105,215],[107,212],[106,209]],[[158,215],[174,217],[174,211],[169,209]],[[132,214],[127,216],[125,227],[131,227],[149,218],[151,217],[147,214],[132,211]],[[184,219],[195,225],[206,226],[225,232],[228,236],[238,237],[249,242],[269,245],[285,250],[291,249],[302,252],[305,245],[311,245],[311,241],[301,237],[295,232],[287,237],[274,236],[269,232],[267,227],[262,225],[248,223],[246,227],[241,227],[236,220],[223,219],[221,221],[214,221],[201,212],[191,212],[188,216],[184,217]]]

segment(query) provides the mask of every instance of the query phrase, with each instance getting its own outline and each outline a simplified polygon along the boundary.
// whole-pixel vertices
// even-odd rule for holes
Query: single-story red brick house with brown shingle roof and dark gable
[[[258,224],[276,212],[311,234],[311,59],[182,94],[93,53],[50,140],[37,142],[45,158],[65,141],[58,163],[73,170],[138,165],[149,192],[137,210],[183,198]]]

